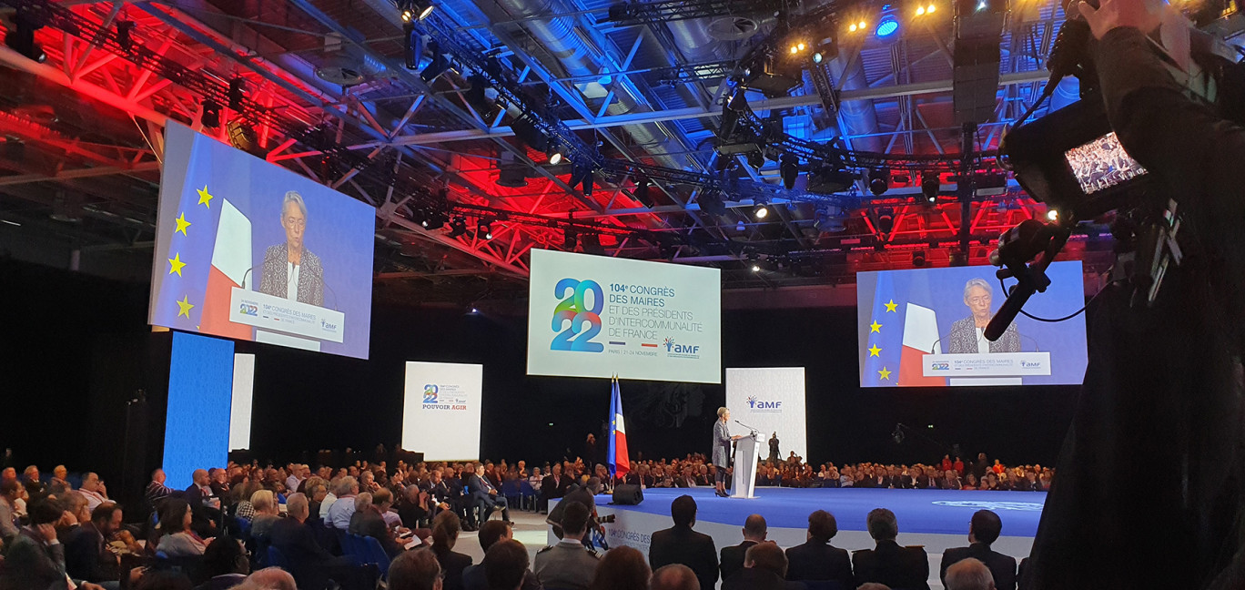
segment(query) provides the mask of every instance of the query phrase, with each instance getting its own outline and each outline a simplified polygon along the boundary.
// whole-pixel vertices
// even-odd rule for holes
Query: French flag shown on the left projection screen
[[[248,271],[250,284],[259,280],[250,265],[250,219],[233,203],[224,200],[220,223],[217,224],[217,240],[212,246],[212,269],[208,270],[199,331],[228,339],[255,340],[253,327],[229,321],[229,296],[233,288],[243,286]]]

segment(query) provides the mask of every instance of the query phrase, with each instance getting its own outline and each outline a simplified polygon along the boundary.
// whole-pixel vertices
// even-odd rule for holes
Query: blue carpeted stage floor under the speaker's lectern
[[[682,495],[696,498],[698,522],[743,527],[748,514],[766,517],[769,528],[804,529],[813,510],[829,510],[839,530],[867,530],[865,517],[874,508],[889,508],[904,534],[967,535],[974,512],[990,509],[1003,522],[1002,536],[1032,538],[1042,515],[1046,492],[961,492],[945,489],[757,488],[757,498],[717,498],[713,488],[644,490],[640,505],[611,505],[615,510],[670,517],[670,503]],[[598,498],[599,504],[605,504]],[[667,525],[669,527],[669,525]]]

